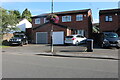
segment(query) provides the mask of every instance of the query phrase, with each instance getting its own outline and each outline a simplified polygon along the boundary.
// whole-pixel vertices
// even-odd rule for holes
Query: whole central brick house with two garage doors
[[[33,43],[51,43],[51,26],[53,25],[53,44],[64,44],[65,36],[81,34],[88,37],[89,19],[92,20],[90,9],[56,12],[58,23],[46,20],[48,14],[32,17]]]

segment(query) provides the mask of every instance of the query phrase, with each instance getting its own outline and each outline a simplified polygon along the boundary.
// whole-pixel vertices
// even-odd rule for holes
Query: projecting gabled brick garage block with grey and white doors
[[[70,35],[72,29],[60,25],[53,24],[53,44],[64,44],[64,37]],[[51,44],[51,23],[41,24],[33,28],[33,43],[36,44]]]

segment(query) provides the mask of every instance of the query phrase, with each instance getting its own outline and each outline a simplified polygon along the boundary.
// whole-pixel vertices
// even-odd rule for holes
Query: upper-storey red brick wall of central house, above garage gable
[[[75,28],[78,30],[81,30],[81,29],[85,30],[86,37],[87,37],[87,35],[88,35],[88,16],[92,17],[92,13],[91,13],[91,11],[89,11],[88,13],[84,13],[82,21],[76,21],[76,15],[77,14],[71,14],[71,22],[62,22],[62,16],[65,16],[65,15],[59,15],[59,23],[58,24],[65,25],[65,26],[68,26],[70,28]],[[36,18],[32,19],[32,26],[33,27],[44,24],[44,17],[40,18],[41,24],[35,24],[35,19]]]

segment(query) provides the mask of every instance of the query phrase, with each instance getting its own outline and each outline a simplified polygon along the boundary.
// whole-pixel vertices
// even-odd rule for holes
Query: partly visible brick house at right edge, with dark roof
[[[100,10],[100,32],[112,31],[120,35],[120,9]]]

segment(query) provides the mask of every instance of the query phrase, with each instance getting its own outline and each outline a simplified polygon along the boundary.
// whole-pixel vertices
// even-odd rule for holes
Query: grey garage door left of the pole
[[[36,44],[47,44],[48,33],[47,32],[36,32]]]

